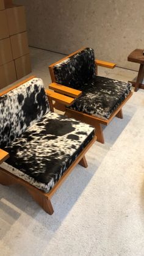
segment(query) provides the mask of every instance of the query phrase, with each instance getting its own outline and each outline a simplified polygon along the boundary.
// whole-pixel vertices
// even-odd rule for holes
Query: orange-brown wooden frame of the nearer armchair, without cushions
[[[24,81],[19,82],[15,86],[10,87],[9,89],[0,93],[0,97],[2,95],[4,95],[5,93],[9,92],[10,90],[15,89],[16,87],[20,86],[21,84],[24,84],[24,82],[27,82],[34,77],[35,76],[31,76],[30,78],[27,78]],[[48,97],[49,97],[49,95],[48,95]],[[66,98],[68,98],[68,97],[66,97]],[[53,99],[62,103],[62,101],[59,100],[59,98],[57,99],[57,97],[54,98],[54,96],[53,96]],[[50,97],[50,100],[51,100],[51,97]],[[82,150],[82,152],[77,156],[77,158],[74,160],[74,162],[71,164],[71,166],[68,167],[66,172],[62,175],[60,180],[57,181],[56,185],[54,185],[54,187],[48,193],[43,192],[38,188],[35,188],[35,186],[32,186],[27,181],[22,180],[21,178],[11,174],[7,170],[2,169],[1,167],[0,167],[0,184],[5,185],[5,186],[12,185],[12,184],[19,184],[19,185],[24,186],[24,188],[26,188],[26,190],[29,192],[29,194],[31,194],[33,199],[40,205],[40,207],[43,208],[43,210],[45,210],[46,213],[52,214],[54,212],[54,210],[53,210],[52,204],[51,204],[51,197],[57,191],[59,186],[62,185],[63,181],[68,177],[68,175],[72,172],[72,170],[74,169],[74,167],[77,164],[80,164],[81,166],[87,168],[87,161],[85,159],[85,153],[87,152],[88,148],[90,148],[93,145],[93,143],[95,141],[96,141],[96,136],[93,137],[92,141],[90,141],[87,144],[87,146],[84,148],[84,150]],[[7,158],[9,158],[9,153],[0,149],[0,164],[2,162],[4,162],[5,159],[7,159]]]

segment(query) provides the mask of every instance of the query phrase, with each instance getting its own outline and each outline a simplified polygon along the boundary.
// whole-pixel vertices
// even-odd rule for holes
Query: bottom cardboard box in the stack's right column
[[[15,70],[17,79],[23,78],[23,76],[31,73],[31,59],[29,54],[26,54],[18,59],[15,59]]]

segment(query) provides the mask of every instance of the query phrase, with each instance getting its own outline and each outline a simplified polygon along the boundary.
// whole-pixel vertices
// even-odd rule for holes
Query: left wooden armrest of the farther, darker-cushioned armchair
[[[52,84],[49,84],[49,89],[74,98],[79,98],[82,95],[81,90],[76,90],[67,86],[63,86],[62,84],[57,84],[56,82],[52,82]]]

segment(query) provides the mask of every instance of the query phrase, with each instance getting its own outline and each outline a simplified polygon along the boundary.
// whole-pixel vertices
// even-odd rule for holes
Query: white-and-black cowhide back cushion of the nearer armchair
[[[0,148],[49,111],[43,81],[33,78],[0,97]]]

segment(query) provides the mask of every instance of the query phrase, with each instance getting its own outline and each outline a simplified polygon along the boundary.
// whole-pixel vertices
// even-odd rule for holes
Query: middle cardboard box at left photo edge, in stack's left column
[[[0,40],[0,65],[13,60],[10,38]]]

